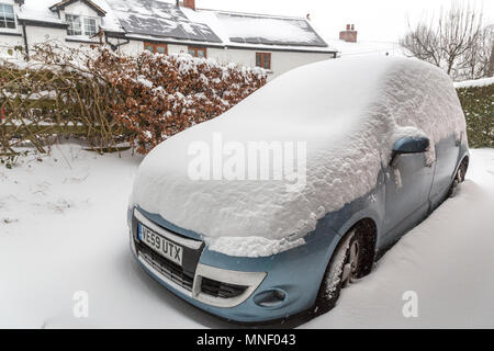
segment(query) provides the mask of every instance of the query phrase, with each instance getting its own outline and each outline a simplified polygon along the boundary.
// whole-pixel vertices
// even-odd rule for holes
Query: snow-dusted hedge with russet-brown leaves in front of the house
[[[190,55],[138,56],[106,47],[44,44],[29,63],[0,63],[0,155],[59,136],[97,150],[130,144],[141,154],[224,113],[266,83],[261,68]]]

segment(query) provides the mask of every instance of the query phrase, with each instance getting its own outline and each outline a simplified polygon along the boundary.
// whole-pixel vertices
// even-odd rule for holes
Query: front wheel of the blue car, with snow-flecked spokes
[[[338,244],[321,283],[314,306],[316,316],[333,309],[341,288],[363,275],[361,272],[363,246],[362,236],[355,229],[349,231]]]

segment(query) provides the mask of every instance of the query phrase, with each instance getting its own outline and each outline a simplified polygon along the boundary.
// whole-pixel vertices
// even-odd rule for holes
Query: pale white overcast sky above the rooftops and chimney
[[[479,9],[483,7],[484,22],[494,22],[494,0],[470,2]],[[438,13],[450,3],[451,0],[195,0],[195,5],[204,9],[295,16],[310,13],[325,38],[337,38],[346,23],[353,23],[362,42],[397,42],[406,30],[407,18]]]

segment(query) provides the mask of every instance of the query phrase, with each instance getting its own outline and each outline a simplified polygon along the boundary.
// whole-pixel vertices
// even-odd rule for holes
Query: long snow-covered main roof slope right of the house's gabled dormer
[[[164,0],[105,0],[128,37],[247,48],[335,52],[304,18],[177,8]]]

